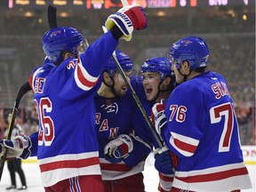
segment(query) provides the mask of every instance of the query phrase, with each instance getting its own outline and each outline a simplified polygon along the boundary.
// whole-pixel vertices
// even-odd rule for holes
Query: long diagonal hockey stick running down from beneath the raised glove
[[[102,26],[102,28],[103,28],[104,33],[107,33],[107,31],[108,31],[107,28],[105,28],[105,26]],[[133,97],[133,99],[136,101],[138,107],[140,108],[140,112],[141,112],[142,115],[144,116],[144,118],[145,118],[145,120],[146,120],[146,122],[147,122],[147,124],[148,124],[148,127],[150,128],[151,132],[152,132],[153,135],[154,135],[154,138],[155,138],[157,144],[159,145],[160,148],[163,148],[164,145],[163,145],[163,143],[162,143],[162,140],[160,139],[159,135],[157,134],[156,130],[154,129],[153,124],[152,124],[151,120],[149,119],[147,112],[146,112],[145,109],[143,108],[143,106],[142,106],[142,104],[141,104],[141,102],[140,102],[140,99],[138,98],[136,92],[134,91],[134,89],[133,89],[133,87],[132,87],[132,84],[131,84],[130,81],[127,79],[127,76],[125,75],[123,68],[121,67],[119,61],[118,61],[117,58],[116,58],[116,52],[113,52],[113,54],[112,54],[112,59],[115,61],[115,63],[116,63],[116,68],[118,69],[119,73],[120,73],[121,76],[124,78],[124,82],[128,85],[129,89],[131,90],[131,92],[132,92],[132,97]]]

